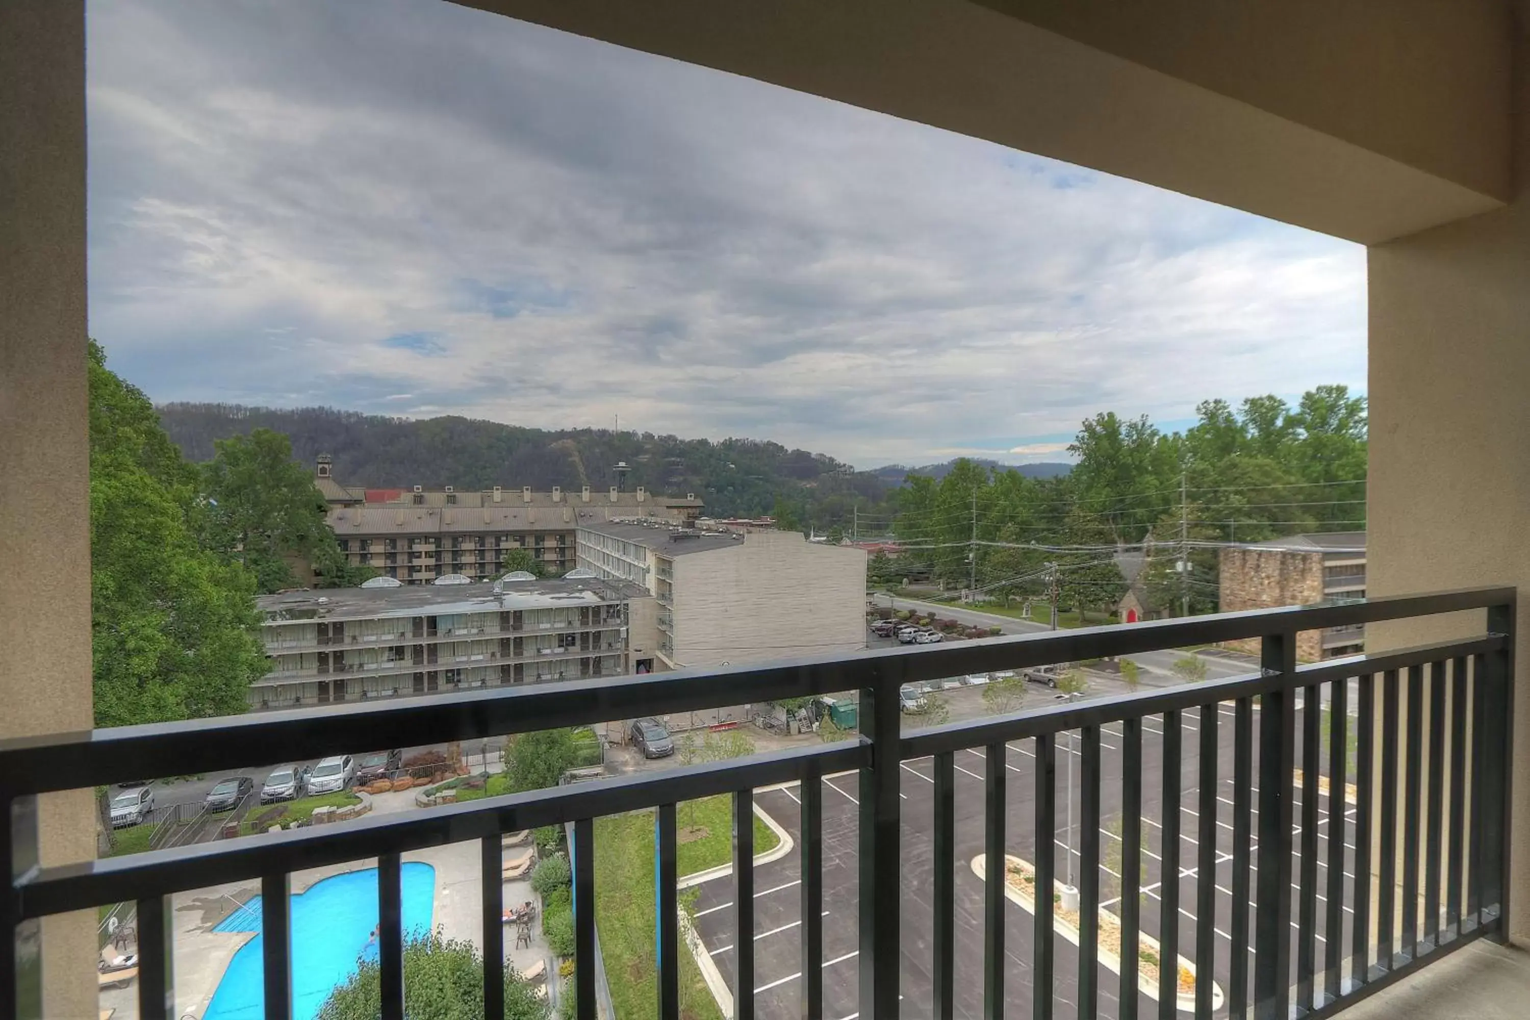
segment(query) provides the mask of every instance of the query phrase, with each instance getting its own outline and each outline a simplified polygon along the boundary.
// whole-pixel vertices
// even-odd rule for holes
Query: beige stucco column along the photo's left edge
[[[0,5],[0,737],[92,719],[84,55],[84,3]],[[40,829],[95,856],[90,792]],[[43,1015],[96,1015],[95,956],[93,913],[44,922]]]

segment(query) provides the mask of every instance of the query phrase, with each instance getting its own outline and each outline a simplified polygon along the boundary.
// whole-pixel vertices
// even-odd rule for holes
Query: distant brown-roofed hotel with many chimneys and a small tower
[[[320,454],[314,482],[346,558],[405,584],[445,573],[487,581],[503,573],[500,563],[511,549],[529,549],[551,573],[566,573],[575,564],[574,532],[583,525],[615,518],[690,525],[702,508],[693,494],[598,492],[588,485],[577,492],[361,489],[334,479],[327,454]]]

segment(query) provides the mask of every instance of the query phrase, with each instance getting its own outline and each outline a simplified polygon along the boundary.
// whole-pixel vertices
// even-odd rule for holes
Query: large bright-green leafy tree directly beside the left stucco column
[[[242,713],[269,668],[254,578],[200,547],[196,469],[95,341],[89,388],[95,723]]]

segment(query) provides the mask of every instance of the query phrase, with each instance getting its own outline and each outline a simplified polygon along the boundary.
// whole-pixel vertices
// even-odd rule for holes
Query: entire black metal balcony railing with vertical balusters
[[[1486,610],[1476,636],[1314,665],[1296,662],[1297,632],[1460,610]],[[861,1017],[898,1014],[900,914],[910,882],[932,890],[932,937],[920,944],[932,947],[929,996],[938,1020],[958,1011],[1001,1017],[1007,1003],[1027,999],[1033,1017],[1051,1017],[1059,979],[1076,983],[1068,999],[1080,1018],[1099,1015],[1102,1000],[1114,1000],[1123,1020],[1154,1009],[1174,1017],[1181,994],[1193,999],[1196,1017],[1210,1017],[1221,1009],[1222,988],[1222,1005],[1233,1017],[1285,1020],[1293,1008],[1327,1017],[1476,937],[1504,936],[1513,619],[1513,589],[1441,592],[0,742],[0,806],[11,817],[9,830],[0,833],[0,870],[12,876],[0,899],[0,930],[15,934],[14,951],[0,953],[0,989],[17,989],[0,997],[0,1020],[41,1012],[38,919],[119,901],[136,902],[139,1015],[173,1017],[168,898],[256,878],[263,892],[265,1015],[285,1018],[292,974],[289,876],[361,858],[378,859],[382,1017],[398,1020],[401,855],[462,841],[482,844],[483,989],[487,1012],[497,1015],[503,986],[500,835],[551,824],[572,824],[577,1015],[589,1020],[595,1017],[597,968],[583,962],[595,953],[594,820],[640,807],[658,809],[655,1008],[670,1020],[679,1015],[682,947],[675,804],[733,797],[736,930],[750,931],[753,791],[777,783],[800,784],[802,1015],[831,1015],[823,983],[822,780],[843,771],[855,771],[858,783],[860,983],[854,1008]],[[909,733],[900,728],[904,684],[1250,638],[1262,639],[1264,651],[1262,668],[1248,676],[1062,700]],[[858,740],[125,858],[38,864],[37,795],[99,786],[124,774],[211,772],[263,760],[271,748],[282,748],[288,759],[311,759],[356,746],[470,740],[846,690],[860,697]],[[1186,754],[1187,729],[1193,755]],[[1118,789],[1103,781],[1106,749],[1120,759]],[[1080,765],[1082,824],[1077,840],[1073,823],[1066,826],[1066,843],[1057,838],[1057,823],[1060,814],[1073,814],[1074,800],[1066,795],[1060,809],[1059,754],[1068,755],[1069,777],[1074,757]],[[984,759],[982,772],[964,768],[958,755]],[[910,772],[929,783],[923,789],[930,795],[932,826],[920,836],[929,840],[927,855],[910,853],[906,844],[913,829],[903,820],[903,786],[918,784]],[[1025,829],[1008,824],[1011,772],[1022,777],[1014,783],[1019,794],[1027,792],[1030,774],[1030,797],[1021,800],[1030,806],[1028,850]],[[956,899],[959,885],[972,879],[959,859],[958,774],[984,784],[981,853],[972,861],[973,872],[979,859],[984,869],[984,976],[981,983],[961,986]],[[1186,789],[1186,775],[1193,791]],[[1193,809],[1186,795],[1193,797]],[[1152,818],[1155,798],[1160,812]],[[1118,833],[1102,827],[1106,814],[1125,820]],[[1184,830],[1181,815],[1190,817]],[[1138,820],[1157,827],[1158,853]],[[1232,833],[1227,850],[1218,849],[1222,827]],[[1118,856],[1112,850],[1111,858],[1115,869],[1102,858],[1102,835],[1118,844]],[[1195,844],[1193,858],[1183,853],[1184,841]],[[1054,888],[1059,846],[1066,861],[1079,864],[1077,907],[1063,899],[1062,910],[1054,896],[1039,895]],[[1030,853],[1037,893],[1024,911],[1010,908],[1016,850]],[[913,866],[906,859],[929,859],[929,873],[909,875]],[[1229,872],[1226,887],[1219,869]],[[1157,881],[1144,882],[1154,870]],[[1114,882],[1109,899],[1118,911],[1102,904],[1102,875]],[[1059,924],[1071,924],[1076,970],[1059,966]],[[1115,979],[1102,965],[1106,930],[1118,960]],[[1157,937],[1158,966],[1157,980],[1144,989],[1138,960],[1146,959],[1141,950],[1149,936]],[[1007,947],[1022,940],[1030,944],[1028,974],[1008,963],[1019,950]],[[750,939],[736,942],[733,1008],[736,1017],[750,1020],[754,950]],[[1189,992],[1183,991],[1181,950],[1193,960]]]

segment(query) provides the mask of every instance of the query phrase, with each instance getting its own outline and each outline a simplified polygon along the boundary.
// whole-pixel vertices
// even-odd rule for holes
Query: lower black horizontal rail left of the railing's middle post
[[[23,875],[15,888],[21,916],[40,918],[826,775],[866,765],[868,754],[869,745],[860,740],[768,751],[430,810],[373,814],[344,824],[41,867]]]

